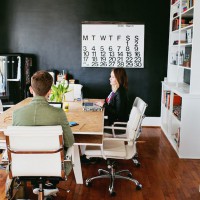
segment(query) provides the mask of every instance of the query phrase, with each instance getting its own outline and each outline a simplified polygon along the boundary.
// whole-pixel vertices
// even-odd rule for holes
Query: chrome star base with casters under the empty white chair
[[[108,190],[109,190],[109,193],[111,196],[116,195],[116,192],[114,190],[115,179],[125,179],[125,180],[129,180],[129,181],[135,183],[136,190],[140,190],[142,188],[142,185],[136,179],[134,179],[132,177],[132,173],[129,170],[116,171],[116,166],[117,166],[116,161],[108,160],[107,161],[108,170],[98,169],[99,175],[86,179],[86,181],[85,181],[86,186],[91,186],[91,184],[92,184],[91,182],[95,179],[109,178],[110,185],[109,185]]]

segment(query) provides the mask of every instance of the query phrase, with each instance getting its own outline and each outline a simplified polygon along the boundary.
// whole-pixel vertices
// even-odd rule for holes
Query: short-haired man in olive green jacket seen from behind
[[[74,136],[63,109],[50,106],[47,99],[51,93],[52,76],[46,71],[38,71],[31,77],[30,92],[33,100],[26,106],[13,112],[13,126],[52,126],[61,125],[63,129],[64,149],[67,150],[74,143]],[[71,165],[65,165],[68,175]],[[57,188],[46,190],[46,194],[57,192]],[[38,189],[33,190],[38,193]]]

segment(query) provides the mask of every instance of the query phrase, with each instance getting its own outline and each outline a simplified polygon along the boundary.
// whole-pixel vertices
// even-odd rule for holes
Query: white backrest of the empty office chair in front
[[[141,111],[137,107],[133,106],[129,115],[129,120],[127,122],[127,138],[134,140],[137,137],[137,133],[140,129],[141,119]]]

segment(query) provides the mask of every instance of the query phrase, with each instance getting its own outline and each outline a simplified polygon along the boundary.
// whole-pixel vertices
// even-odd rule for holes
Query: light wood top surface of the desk
[[[12,125],[12,113],[14,110],[21,108],[22,106],[28,104],[32,98],[26,98],[18,104],[12,106],[0,115],[0,130],[6,129],[7,126]],[[90,99],[89,101],[95,101],[95,99]],[[103,121],[104,112],[90,112],[83,111],[81,102],[69,102],[69,111],[66,112],[68,121],[75,121],[79,125],[71,127],[74,134],[103,134]]]

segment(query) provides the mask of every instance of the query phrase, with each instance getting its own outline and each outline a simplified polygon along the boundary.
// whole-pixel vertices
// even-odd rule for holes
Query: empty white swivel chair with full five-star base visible
[[[141,112],[137,107],[133,107],[130,113],[129,121],[127,122],[127,127],[114,127],[115,130],[125,130],[126,137],[104,137],[101,147],[98,146],[86,146],[85,154],[87,158],[90,157],[102,157],[105,160],[108,159],[107,167],[108,171],[104,169],[99,169],[99,176],[95,176],[86,180],[86,186],[91,185],[94,179],[99,178],[110,178],[109,192],[111,195],[115,195],[114,191],[114,181],[115,179],[125,179],[130,180],[136,184],[136,189],[142,188],[142,185],[134,178],[129,170],[121,170],[116,172],[116,162],[112,159],[132,159],[136,153],[135,139],[137,137],[140,121]],[[110,127],[113,129],[113,127]],[[122,176],[121,174],[126,174],[127,176]]]

